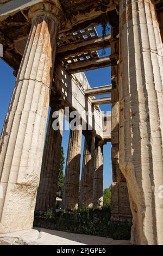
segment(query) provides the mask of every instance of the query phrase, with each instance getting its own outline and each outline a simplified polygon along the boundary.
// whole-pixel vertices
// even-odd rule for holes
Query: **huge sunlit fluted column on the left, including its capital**
[[[33,226],[60,10],[57,1],[29,10],[32,28],[0,143],[0,233]]]

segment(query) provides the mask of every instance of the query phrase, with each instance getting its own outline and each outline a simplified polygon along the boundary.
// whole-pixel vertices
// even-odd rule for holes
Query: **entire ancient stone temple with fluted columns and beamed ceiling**
[[[98,36],[95,26],[106,23],[110,34]],[[111,219],[132,217],[132,244],[163,244],[162,39],[162,0],[0,0],[2,59],[16,76],[0,142],[0,233],[30,229],[34,211],[55,210],[68,108],[80,121],[70,131],[62,209],[102,207],[111,141]],[[98,56],[106,47],[110,55]],[[91,88],[83,71],[106,66],[111,84]]]

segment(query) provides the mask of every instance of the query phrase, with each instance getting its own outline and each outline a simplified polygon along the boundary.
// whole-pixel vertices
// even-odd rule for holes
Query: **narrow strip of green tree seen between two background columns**
[[[60,168],[59,168],[59,174],[58,174],[58,191],[57,191],[57,196],[60,198],[62,198],[62,188],[64,187],[64,163],[65,163],[64,148],[61,147]]]

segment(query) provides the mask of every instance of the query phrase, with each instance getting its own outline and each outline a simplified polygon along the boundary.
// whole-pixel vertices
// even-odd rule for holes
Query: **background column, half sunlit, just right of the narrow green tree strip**
[[[81,145],[82,125],[78,130],[70,130],[62,209],[78,209]]]

